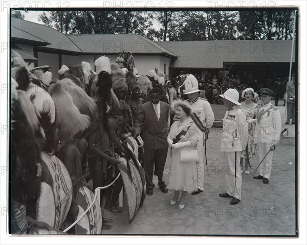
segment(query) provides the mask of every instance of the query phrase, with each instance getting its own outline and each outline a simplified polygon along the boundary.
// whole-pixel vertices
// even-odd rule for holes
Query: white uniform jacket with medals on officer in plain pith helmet
[[[246,116],[237,105],[227,110],[223,119],[221,151],[233,152],[245,149],[248,139]]]

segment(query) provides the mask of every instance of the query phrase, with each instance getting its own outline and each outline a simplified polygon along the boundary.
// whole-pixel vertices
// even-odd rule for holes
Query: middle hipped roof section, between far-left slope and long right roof
[[[67,35],[84,53],[163,54],[177,57],[172,52],[138,34],[70,34]]]

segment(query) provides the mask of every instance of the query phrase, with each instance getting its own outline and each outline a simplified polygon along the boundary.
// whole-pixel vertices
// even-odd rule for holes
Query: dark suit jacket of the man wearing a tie
[[[160,119],[155,113],[151,101],[141,105],[140,112],[136,120],[136,133],[141,133],[145,149],[165,149],[168,147],[168,117],[169,106],[167,103],[160,101]]]

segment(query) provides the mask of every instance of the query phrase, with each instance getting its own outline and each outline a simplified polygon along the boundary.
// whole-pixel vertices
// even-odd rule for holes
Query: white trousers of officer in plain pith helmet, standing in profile
[[[235,151],[226,152],[225,151],[225,160],[226,160],[226,173],[225,180],[227,185],[227,193],[230,196],[241,199],[242,191],[242,175],[241,175],[241,166],[240,166],[240,154],[241,151],[236,152],[236,178],[235,178]],[[236,184],[234,184],[236,182]]]

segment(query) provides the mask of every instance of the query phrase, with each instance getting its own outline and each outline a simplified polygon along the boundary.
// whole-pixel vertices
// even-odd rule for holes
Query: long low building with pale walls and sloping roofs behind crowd
[[[29,62],[30,68],[52,66],[54,79],[61,64],[73,66],[94,62],[106,55],[115,62],[120,51],[133,53],[139,74],[156,67],[170,78],[181,71],[206,79],[224,74],[240,81],[277,79],[289,73],[292,40],[165,41],[154,42],[138,34],[69,34],[27,20],[11,18],[12,49]],[[295,47],[294,47],[295,50]],[[295,52],[292,62],[295,62]],[[295,64],[295,63],[294,63]],[[295,69],[295,65],[293,65]]]

